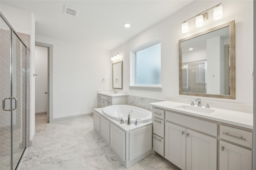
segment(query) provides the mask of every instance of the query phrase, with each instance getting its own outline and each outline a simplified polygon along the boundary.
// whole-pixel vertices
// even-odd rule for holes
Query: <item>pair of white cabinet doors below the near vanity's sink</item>
[[[166,122],[164,157],[182,170],[216,170],[217,139]]]

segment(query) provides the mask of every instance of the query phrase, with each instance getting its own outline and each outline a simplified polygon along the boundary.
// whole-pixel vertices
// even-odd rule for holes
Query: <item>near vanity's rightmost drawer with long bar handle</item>
[[[220,125],[220,138],[252,148],[252,132]]]

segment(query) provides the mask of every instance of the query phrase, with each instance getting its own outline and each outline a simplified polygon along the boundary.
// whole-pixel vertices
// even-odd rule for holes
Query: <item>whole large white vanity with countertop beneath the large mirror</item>
[[[153,150],[182,170],[252,170],[253,114],[152,103]]]

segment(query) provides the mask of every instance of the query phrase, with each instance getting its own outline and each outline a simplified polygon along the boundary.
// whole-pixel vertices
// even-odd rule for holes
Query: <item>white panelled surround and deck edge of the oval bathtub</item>
[[[127,125],[110,119],[102,108],[94,109],[94,129],[110,145],[118,160],[129,168],[152,153],[152,121]]]

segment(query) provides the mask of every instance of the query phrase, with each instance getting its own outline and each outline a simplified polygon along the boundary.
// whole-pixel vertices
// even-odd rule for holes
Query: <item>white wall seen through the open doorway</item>
[[[36,101],[35,113],[47,112],[48,95],[48,49],[46,47],[35,47],[35,72],[36,76]]]

